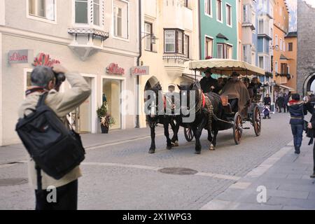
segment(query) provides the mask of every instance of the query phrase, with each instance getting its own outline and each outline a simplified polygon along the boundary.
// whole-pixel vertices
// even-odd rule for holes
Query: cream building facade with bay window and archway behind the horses
[[[142,0],[142,51],[140,64],[149,74],[139,77],[139,127],[146,127],[144,91],[160,82],[169,87],[195,80],[188,69],[191,59],[199,59],[199,10],[197,1]]]

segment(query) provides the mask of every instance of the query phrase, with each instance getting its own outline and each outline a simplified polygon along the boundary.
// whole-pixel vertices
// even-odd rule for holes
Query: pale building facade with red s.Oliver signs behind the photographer
[[[90,84],[90,98],[69,117],[78,132],[99,132],[104,99],[112,128],[135,127],[136,97],[126,92],[137,81],[130,69],[139,56],[138,1],[5,0],[0,8],[0,146],[19,142],[15,123],[33,64],[60,62]]]

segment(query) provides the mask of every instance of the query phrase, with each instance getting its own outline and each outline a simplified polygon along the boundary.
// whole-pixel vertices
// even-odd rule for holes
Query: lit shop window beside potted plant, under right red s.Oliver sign
[[[103,95],[104,94],[104,95]],[[103,99],[109,106],[109,113],[115,120],[111,129],[121,128],[121,80],[103,79]]]

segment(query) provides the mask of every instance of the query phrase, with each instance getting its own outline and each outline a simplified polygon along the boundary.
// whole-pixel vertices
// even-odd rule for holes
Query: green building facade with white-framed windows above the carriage
[[[237,59],[235,0],[200,1],[200,57]]]

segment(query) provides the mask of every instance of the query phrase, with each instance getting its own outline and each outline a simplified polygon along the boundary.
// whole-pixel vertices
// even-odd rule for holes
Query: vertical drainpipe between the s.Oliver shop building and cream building
[[[140,66],[140,58],[142,56],[142,33],[141,33],[141,0],[139,0],[139,57],[137,57],[137,66]],[[136,128],[140,127],[140,118],[139,118],[139,105],[140,105],[140,76],[137,76],[137,121],[136,121]]]

